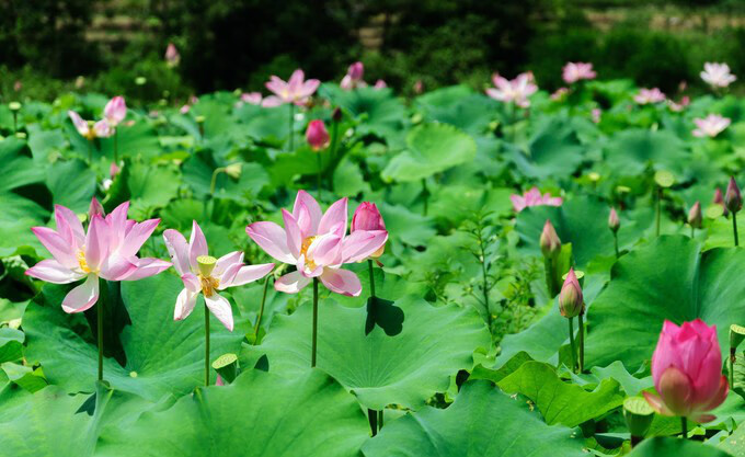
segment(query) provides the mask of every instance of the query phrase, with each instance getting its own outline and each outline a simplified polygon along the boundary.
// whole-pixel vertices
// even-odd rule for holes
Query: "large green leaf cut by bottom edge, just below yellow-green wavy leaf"
[[[549,426],[488,381],[467,382],[445,410],[425,408],[387,423],[365,443],[366,457],[581,457],[581,434]]]

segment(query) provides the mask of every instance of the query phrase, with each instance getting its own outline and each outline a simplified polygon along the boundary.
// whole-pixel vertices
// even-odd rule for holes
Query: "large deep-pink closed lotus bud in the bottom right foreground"
[[[660,396],[644,392],[644,398],[657,413],[713,421],[707,412],[722,404],[730,390],[717,325],[696,319],[678,327],[666,320],[652,355],[652,378]]]

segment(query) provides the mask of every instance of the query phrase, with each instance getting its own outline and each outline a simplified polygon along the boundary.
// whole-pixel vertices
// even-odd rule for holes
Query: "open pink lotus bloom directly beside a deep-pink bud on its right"
[[[386,230],[355,230],[346,235],[347,199],[332,204],[325,214],[306,191],[299,191],[293,213],[285,209],[283,229],[270,221],[254,222],[247,233],[267,254],[297,266],[282,276],[274,288],[296,294],[318,277],[331,292],[356,297],[362,292],[357,275],[341,266],[359,262],[378,251],[388,240]]]

